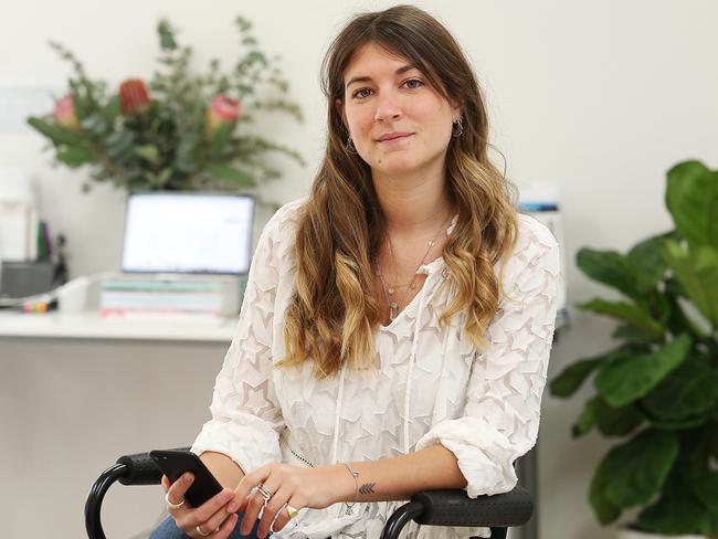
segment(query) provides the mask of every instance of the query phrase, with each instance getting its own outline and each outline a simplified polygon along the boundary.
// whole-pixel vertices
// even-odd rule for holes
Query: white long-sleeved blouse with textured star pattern
[[[519,236],[504,270],[499,308],[478,353],[464,314],[440,328],[450,287],[437,258],[419,272],[419,294],[376,336],[377,371],[342,369],[316,380],[312,366],[273,369],[284,357],[284,313],[294,290],[293,241],[303,200],[284,205],[260,239],[239,327],[214,387],[212,419],[192,452],[224,453],[243,471],[271,462],[314,466],[376,461],[442,444],[454,453],[468,496],[508,492],[514,461],[536,443],[559,289],[558,244],[519,215]],[[447,230],[450,234],[452,228]],[[498,275],[498,265],[495,272]],[[378,538],[404,501],[304,508],[276,538]],[[488,528],[420,527],[402,537],[489,537]]]

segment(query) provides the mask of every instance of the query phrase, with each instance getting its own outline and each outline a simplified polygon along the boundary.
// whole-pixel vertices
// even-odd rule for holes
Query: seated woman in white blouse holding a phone
[[[461,49],[400,6],[351,20],[324,74],[324,162],[263,231],[192,447],[225,492],[194,509],[165,480],[154,537],[374,538],[419,490],[510,490],[535,444],[558,249],[487,158]]]

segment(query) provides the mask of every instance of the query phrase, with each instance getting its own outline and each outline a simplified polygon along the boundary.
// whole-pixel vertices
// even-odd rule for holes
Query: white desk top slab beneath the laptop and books
[[[97,311],[0,311],[1,337],[231,342],[239,317],[154,315],[102,318]]]

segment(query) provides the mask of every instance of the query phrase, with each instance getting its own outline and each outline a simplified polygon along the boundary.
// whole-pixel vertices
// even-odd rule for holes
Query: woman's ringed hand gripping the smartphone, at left
[[[200,507],[192,507],[184,500],[184,493],[192,480],[194,477],[189,472],[171,485],[169,479],[162,476],[162,487],[167,492],[167,512],[175,519],[177,527],[190,537],[226,539],[237,519],[236,514],[226,510],[228,503],[234,498],[234,490],[223,488]]]

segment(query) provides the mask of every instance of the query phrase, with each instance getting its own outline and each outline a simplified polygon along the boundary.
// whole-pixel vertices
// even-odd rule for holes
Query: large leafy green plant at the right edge
[[[686,161],[667,173],[675,230],[626,254],[582,249],[577,265],[624,298],[579,308],[617,320],[615,348],[577,360],[551,381],[595,394],[572,426],[617,443],[602,458],[589,499],[601,525],[637,514],[631,537],[718,537],[718,170]]]

